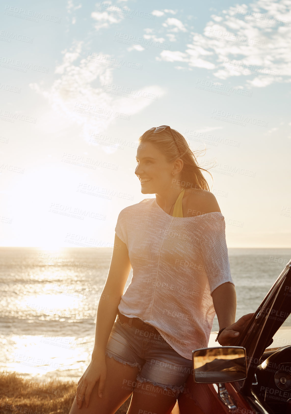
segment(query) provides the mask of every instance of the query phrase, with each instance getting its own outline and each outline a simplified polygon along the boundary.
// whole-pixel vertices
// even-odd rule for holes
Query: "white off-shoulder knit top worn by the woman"
[[[121,210],[115,232],[133,269],[120,313],[153,325],[178,354],[192,359],[193,349],[208,347],[212,292],[234,284],[224,216],[173,217],[147,198]]]

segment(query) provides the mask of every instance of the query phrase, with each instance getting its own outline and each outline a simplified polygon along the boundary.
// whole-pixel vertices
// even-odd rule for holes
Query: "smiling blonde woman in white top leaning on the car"
[[[208,346],[215,313],[226,328],[222,345],[248,322],[231,327],[236,294],[224,217],[186,140],[163,125],[139,143],[135,174],[141,192],[155,198],[119,213],[101,294],[108,300],[99,301],[91,363],[70,414],[113,414],[131,393],[128,414],[170,413],[192,350]]]

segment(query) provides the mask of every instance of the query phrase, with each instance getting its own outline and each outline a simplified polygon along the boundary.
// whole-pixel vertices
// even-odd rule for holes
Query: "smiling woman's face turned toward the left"
[[[175,163],[168,163],[154,144],[145,142],[139,145],[136,161],[135,173],[141,181],[141,193],[155,194],[171,187],[173,178],[176,178]],[[173,171],[175,177],[172,175]]]

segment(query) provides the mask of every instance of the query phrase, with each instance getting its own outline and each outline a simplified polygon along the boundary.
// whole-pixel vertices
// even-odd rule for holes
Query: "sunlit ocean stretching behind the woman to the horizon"
[[[0,247],[0,369],[26,378],[79,379],[91,361],[95,318],[112,248]],[[236,320],[254,312],[291,249],[229,248]],[[126,282],[128,286],[132,275]],[[285,325],[291,325],[288,321]],[[215,317],[212,331],[217,330]]]

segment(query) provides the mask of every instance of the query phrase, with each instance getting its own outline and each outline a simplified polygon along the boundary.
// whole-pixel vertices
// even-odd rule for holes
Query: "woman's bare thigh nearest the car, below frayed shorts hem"
[[[137,380],[127,414],[143,414],[144,412],[169,414],[176,401],[177,396],[173,396],[172,390],[165,392],[163,388],[151,383],[140,383]]]

